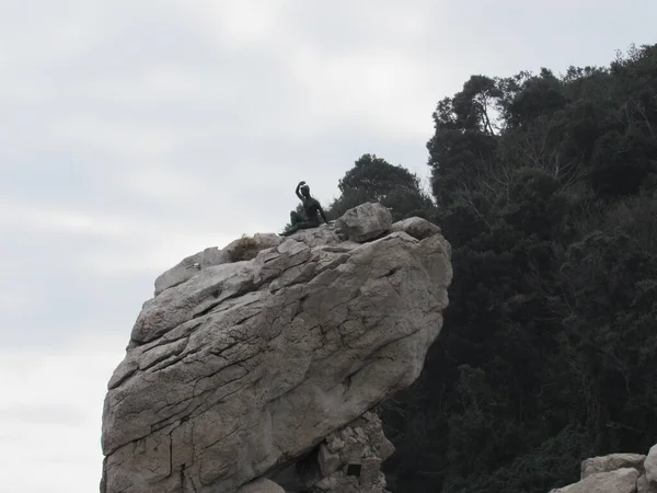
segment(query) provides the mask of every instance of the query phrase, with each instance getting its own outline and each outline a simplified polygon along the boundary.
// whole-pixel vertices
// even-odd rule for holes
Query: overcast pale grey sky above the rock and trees
[[[280,231],[362,153],[426,176],[470,74],[606,65],[655,25],[654,0],[0,0],[2,489],[97,491],[158,274]]]

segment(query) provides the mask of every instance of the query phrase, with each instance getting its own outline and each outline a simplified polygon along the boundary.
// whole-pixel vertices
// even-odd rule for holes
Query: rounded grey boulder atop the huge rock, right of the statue
[[[379,203],[366,203],[347,210],[335,221],[342,239],[364,243],[390,231],[392,214]]]

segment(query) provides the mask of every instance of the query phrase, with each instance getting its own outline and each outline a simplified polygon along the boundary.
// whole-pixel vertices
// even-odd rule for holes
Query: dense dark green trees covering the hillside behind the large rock
[[[440,101],[433,198],[376,156],[339,183],[436,221],[454,280],[416,385],[385,404],[392,491],[541,492],[657,442],[657,45],[609,67],[473,76]]]

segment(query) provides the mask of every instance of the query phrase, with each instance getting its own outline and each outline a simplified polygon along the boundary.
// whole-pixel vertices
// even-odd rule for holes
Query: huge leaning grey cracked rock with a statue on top
[[[378,204],[345,216],[160,276],[108,383],[102,492],[280,492],[290,467],[304,491],[383,491],[368,411],[419,375],[451,252]]]

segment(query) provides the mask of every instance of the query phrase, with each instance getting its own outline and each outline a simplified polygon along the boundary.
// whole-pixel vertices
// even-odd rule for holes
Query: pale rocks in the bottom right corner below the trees
[[[610,454],[586,459],[581,462],[579,482],[550,493],[657,493],[657,481],[652,478],[652,460],[657,459],[656,456],[657,445],[647,457],[639,454]]]

